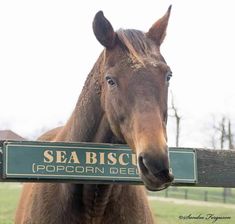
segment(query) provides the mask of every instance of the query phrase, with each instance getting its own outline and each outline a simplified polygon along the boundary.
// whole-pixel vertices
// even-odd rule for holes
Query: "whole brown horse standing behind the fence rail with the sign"
[[[93,21],[105,47],[64,127],[40,140],[127,143],[149,190],[168,187],[167,95],[171,70],[160,54],[170,9],[149,29],[114,32],[100,11]],[[150,224],[144,187],[65,183],[25,184],[15,223]]]

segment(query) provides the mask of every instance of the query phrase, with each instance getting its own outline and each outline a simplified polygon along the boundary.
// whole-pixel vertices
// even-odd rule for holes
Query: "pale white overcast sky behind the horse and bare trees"
[[[0,1],[0,129],[32,139],[67,121],[103,49],[92,31],[97,11],[116,30],[148,31],[170,4],[161,52],[173,71],[180,144],[209,147],[214,118],[235,124],[232,0]],[[168,135],[174,145],[172,118]]]

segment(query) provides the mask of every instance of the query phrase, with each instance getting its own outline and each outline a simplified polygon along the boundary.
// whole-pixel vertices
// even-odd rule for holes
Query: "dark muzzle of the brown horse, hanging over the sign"
[[[168,157],[154,157],[147,153],[140,153],[138,165],[141,178],[150,191],[160,191],[171,185],[174,180],[169,170]]]

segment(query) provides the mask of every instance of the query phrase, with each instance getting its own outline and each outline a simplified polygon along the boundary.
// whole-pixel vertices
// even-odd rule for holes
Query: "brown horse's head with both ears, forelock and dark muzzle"
[[[112,132],[137,154],[141,177],[150,190],[173,181],[167,147],[167,95],[172,75],[160,54],[170,9],[149,29],[114,32],[102,12],[93,30],[105,47],[101,101]]]

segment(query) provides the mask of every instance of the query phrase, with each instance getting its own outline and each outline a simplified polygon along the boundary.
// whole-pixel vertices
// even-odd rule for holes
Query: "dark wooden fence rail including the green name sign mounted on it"
[[[235,187],[235,150],[170,148],[176,186]],[[126,145],[0,142],[2,182],[141,184]]]

